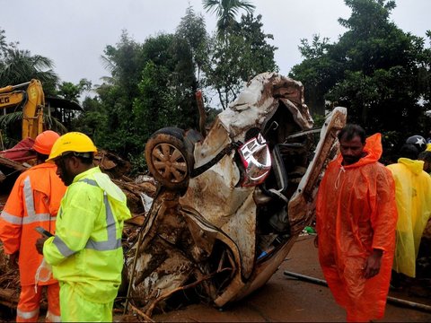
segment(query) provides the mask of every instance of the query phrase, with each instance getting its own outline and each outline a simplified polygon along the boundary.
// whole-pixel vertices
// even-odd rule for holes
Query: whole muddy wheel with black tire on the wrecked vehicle
[[[154,133],[145,144],[145,160],[154,179],[166,188],[189,185],[193,155],[184,142],[184,131],[165,127]]]

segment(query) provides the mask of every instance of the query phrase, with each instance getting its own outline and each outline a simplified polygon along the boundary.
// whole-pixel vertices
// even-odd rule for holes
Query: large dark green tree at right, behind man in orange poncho
[[[337,42],[302,40],[305,57],[291,77],[303,82],[306,103],[322,111],[325,100],[347,107],[347,121],[368,133],[424,134],[429,109],[429,48],[424,39],[389,20],[395,1],[345,0],[352,9],[339,19],[347,31]],[[314,107],[313,107],[314,106]],[[397,142],[391,135],[391,144]]]

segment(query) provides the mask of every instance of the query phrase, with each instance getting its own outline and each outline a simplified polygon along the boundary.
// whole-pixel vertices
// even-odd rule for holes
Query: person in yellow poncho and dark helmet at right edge
[[[398,162],[387,166],[395,180],[398,209],[392,269],[409,277],[416,276],[419,243],[431,214],[431,177],[417,158],[418,149],[404,144]]]

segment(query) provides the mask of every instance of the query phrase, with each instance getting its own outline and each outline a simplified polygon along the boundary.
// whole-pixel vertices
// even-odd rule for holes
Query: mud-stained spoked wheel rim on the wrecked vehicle
[[[151,154],[154,170],[164,180],[180,183],[187,178],[187,162],[180,150],[172,144],[157,144]]]

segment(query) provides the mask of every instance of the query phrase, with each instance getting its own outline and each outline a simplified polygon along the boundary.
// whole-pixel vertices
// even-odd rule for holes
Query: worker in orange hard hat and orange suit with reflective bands
[[[35,274],[43,257],[35,243],[41,235],[40,226],[51,233],[56,230],[57,211],[66,186],[58,178],[57,166],[44,162],[59,135],[47,130],[35,139],[37,165],[25,170],[16,179],[4,210],[0,215],[0,240],[10,263],[18,258],[21,293],[16,311],[17,322],[36,322],[39,318],[42,286],[47,285],[48,311],[46,321],[60,320],[59,286],[52,277],[44,283],[35,282]]]

